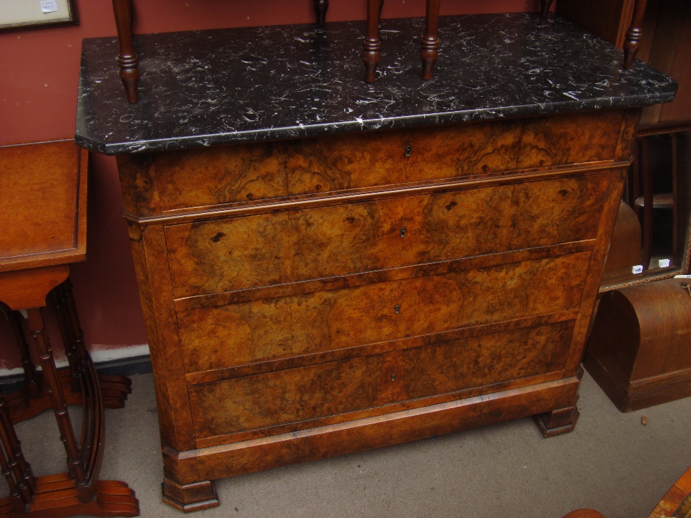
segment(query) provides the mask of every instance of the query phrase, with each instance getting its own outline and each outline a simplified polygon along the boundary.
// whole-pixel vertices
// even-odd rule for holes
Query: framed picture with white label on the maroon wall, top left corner
[[[0,31],[77,23],[76,0],[0,0]]]

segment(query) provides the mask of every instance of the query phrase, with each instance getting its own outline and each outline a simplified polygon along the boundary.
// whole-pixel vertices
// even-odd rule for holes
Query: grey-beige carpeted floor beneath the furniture
[[[144,518],[182,517],[161,502],[153,377],[132,380],[126,408],[106,410],[101,478],[129,483]],[[585,374],[579,408],[576,430],[552,439],[520,419],[220,480],[220,507],[192,516],[560,518],[589,507],[647,517],[691,465],[691,398],[621,414]],[[17,431],[35,474],[65,471],[52,413]]]

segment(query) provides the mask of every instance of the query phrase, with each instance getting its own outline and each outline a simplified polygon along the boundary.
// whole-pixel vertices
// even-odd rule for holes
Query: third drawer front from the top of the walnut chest
[[[187,372],[578,308],[589,252],[178,312]]]

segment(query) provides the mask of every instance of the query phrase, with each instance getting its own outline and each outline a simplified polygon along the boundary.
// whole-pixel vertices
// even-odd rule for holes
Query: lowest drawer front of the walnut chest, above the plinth
[[[205,439],[299,423],[558,372],[572,329],[571,320],[192,385],[188,390],[195,435]],[[492,392],[491,387],[485,392]],[[374,414],[391,411],[382,408]]]

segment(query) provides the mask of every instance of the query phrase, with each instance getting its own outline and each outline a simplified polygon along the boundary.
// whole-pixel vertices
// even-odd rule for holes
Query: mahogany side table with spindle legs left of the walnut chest
[[[88,155],[72,140],[0,147],[0,309],[17,336],[26,386],[0,395],[0,470],[10,496],[0,499],[0,516],[138,516],[133,490],[98,475],[104,445],[104,396],[122,407],[129,393],[124,376],[101,379],[84,347],[72,289],[70,264],[86,258]],[[46,297],[55,298],[70,364],[58,372],[46,334]],[[19,310],[26,311],[41,363],[36,372],[23,338]],[[82,434],[75,436],[68,404],[84,409]],[[35,477],[21,451],[13,423],[53,408],[67,454],[67,472]]]

